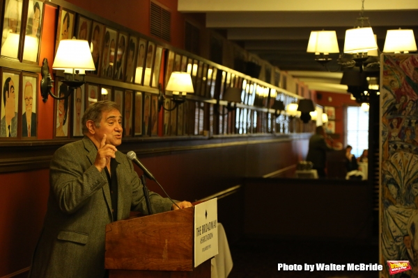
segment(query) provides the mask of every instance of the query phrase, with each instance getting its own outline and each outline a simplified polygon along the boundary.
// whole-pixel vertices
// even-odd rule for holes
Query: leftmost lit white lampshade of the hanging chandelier
[[[307,52],[339,53],[335,31],[311,31]]]

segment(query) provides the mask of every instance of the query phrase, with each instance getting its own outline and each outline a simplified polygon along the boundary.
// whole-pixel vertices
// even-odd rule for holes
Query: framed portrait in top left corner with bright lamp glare
[[[19,58],[22,8],[22,1],[20,0],[6,0],[4,3],[1,56]]]

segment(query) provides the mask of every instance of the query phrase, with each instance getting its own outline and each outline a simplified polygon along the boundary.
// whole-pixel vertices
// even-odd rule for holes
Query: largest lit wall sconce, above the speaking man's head
[[[47,102],[48,95],[54,99],[66,99],[75,88],[84,84],[86,70],[95,70],[88,42],[86,40],[75,40],[75,38],[61,40],[52,69],[64,70],[62,83],[68,85],[72,90],[68,90],[68,93],[63,97],[56,97],[52,94],[51,88],[53,85],[51,74],[49,74],[48,60],[44,58],[41,72],[42,80],[40,81],[40,92],[44,102]]]

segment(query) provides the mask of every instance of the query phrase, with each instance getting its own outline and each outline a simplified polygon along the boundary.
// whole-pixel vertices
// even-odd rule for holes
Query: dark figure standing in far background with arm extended
[[[342,149],[341,143],[337,147],[331,147],[325,140],[326,134],[323,126],[316,127],[316,133],[309,139],[309,151],[307,161],[314,164],[313,169],[318,172],[318,177],[325,178],[325,166],[327,152]]]

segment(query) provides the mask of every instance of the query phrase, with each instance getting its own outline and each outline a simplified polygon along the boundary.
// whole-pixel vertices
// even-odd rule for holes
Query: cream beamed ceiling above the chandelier
[[[346,29],[364,17],[380,51],[389,29],[412,28],[418,38],[418,0],[178,0],[181,13],[206,13],[206,27],[223,30],[228,40],[303,81],[310,90],[347,92],[342,72],[327,72],[307,53],[311,31],[334,30],[343,52]],[[366,24],[365,24],[366,25]],[[338,70],[336,58],[328,64]]]

